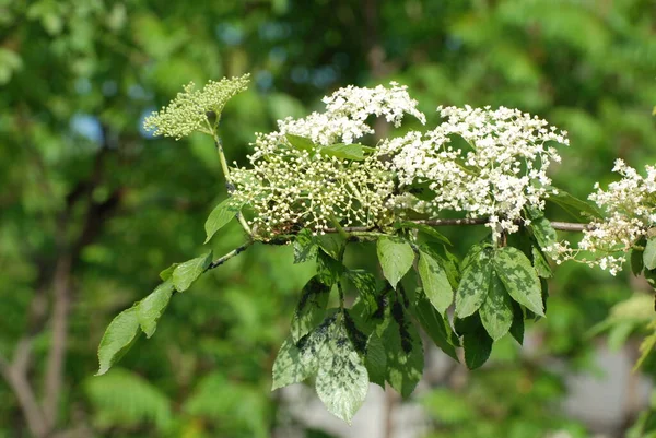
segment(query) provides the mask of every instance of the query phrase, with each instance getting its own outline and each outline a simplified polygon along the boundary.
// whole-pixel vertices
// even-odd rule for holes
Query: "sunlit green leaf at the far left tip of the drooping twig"
[[[107,372],[130,350],[138,334],[138,307],[132,306],[118,313],[107,325],[98,346],[99,368],[96,376]]]

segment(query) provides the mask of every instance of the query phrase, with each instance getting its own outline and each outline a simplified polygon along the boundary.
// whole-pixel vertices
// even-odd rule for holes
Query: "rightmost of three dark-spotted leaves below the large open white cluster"
[[[515,301],[544,316],[540,279],[524,252],[513,247],[499,248],[494,252],[494,268]]]

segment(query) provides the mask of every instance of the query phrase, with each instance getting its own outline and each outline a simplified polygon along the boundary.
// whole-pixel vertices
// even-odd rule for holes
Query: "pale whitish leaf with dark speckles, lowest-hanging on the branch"
[[[319,362],[315,388],[330,413],[351,424],[368,391],[368,374],[347,330],[337,323]]]

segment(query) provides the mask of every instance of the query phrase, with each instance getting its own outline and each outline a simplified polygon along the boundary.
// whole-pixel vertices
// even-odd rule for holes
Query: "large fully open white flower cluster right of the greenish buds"
[[[446,121],[425,134],[409,132],[383,142],[380,155],[391,156],[388,168],[401,189],[427,187],[432,198],[413,208],[432,216],[444,210],[464,211],[468,217],[489,217],[496,236],[514,233],[527,208],[543,210],[551,179],[547,169],[560,162],[547,142],[569,144],[566,132],[548,122],[501,107],[438,107]],[[464,147],[454,138],[465,140]],[[393,200],[406,208],[408,194]],[[525,223],[529,220],[524,217]]]

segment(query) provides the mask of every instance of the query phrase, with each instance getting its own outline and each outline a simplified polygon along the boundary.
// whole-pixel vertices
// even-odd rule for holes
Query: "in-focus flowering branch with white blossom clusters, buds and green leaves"
[[[208,217],[207,239],[237,217],[247,240],[219,259],[209,252],[163,271],[163,283],[109,324],[101,374],[140,331],[154,333],[174,293],[254,244],[291,244],[295,263],[317,267],[273,365],[273,389],[314,378],[318,396],[347,422],[368,382],[412,393],[423,371],[420,329],[469,368],[483,365],[508,333],[522,343],[525,321],[546,313],[549,257],[575,257],[557,229],[585,233],[579,248],[601,253],[590,264],[614,273],[623,259],[608,252],[633,250],[634,272],[656,277],[653,167],[643,178],[618,162],[624,178],[590,196],[602,215],[551,186],[547,170],[560,161],[554,145],[567,144],[566,133],[516,109],[440,107],[446,120],[433,130],[354,143],[375,133],[374,116],[395,126],[406,114],[425,122],[407,90],[393,83],[339,90],[324,99],[324,113],[257,134],[251,167],[229,168],[216,120],[246,81],[223,80],[203,92],[188,86],[147,126],[176,139],[194,130],[214,138],[230,198]],[[551,223],[547,202],[587,223]],[[436,229],[453,224],[491,229],[458,260]],[[347,247],[363,241],[375,241],[382,277],[344,264]],[[333,291],[338,305],[329,308]]]

